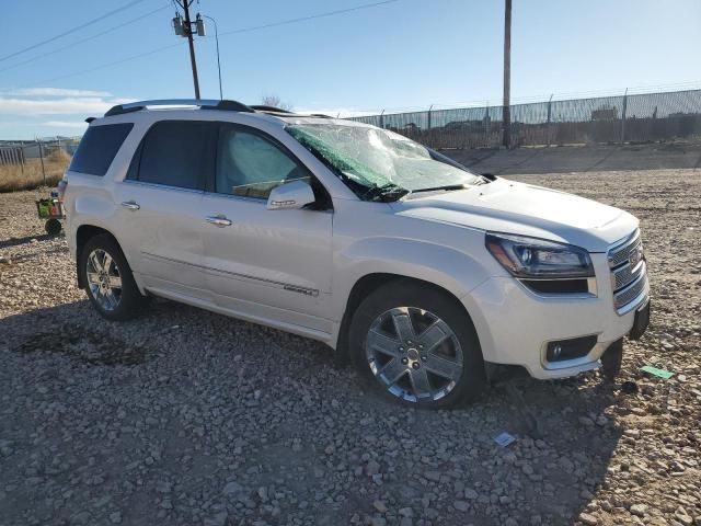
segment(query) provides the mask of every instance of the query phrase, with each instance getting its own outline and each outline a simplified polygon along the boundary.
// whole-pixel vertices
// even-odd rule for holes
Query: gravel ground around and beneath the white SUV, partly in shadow
[[[514,179],[642,219],[653,324],[614,386],[517,378],[447,412],[174,302],[106,322],[39,193],[0,195],[0,524],[701,525],[701,171]]]

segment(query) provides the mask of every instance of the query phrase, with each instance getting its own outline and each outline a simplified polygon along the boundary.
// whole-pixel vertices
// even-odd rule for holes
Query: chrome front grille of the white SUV
[[[611,248],[608,260],[611,268],[613,305],[620,311],[637,298],[647,286],[640,231],[636,230],[627,240]]]

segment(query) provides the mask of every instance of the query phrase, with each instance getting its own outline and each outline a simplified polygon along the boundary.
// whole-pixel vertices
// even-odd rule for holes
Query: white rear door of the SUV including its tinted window
[[[135,271],[157,294],[209,299],[203,195],[214,170],[216,134],[211,122],[156,123],[117,185],[123,231],[137,249]]]

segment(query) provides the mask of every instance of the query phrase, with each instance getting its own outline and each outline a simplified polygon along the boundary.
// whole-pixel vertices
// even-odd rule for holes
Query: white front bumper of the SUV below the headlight
[[[600,367],[608,346],[633,328],[635,312],[650,298],[644,276],[641,293],[617,311],[606,254],[591,254],[595,294],[538,295],[512,277],[493,277],[461,298],[475,325],[486,362],[525,367],[533,378],[573,376]],[[548,343],[596,336],[584,356],[549,362]]]

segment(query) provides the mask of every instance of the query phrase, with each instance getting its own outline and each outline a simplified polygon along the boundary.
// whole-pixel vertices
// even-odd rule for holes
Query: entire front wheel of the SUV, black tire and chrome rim
[[[360,302],[349,331],[360,373],[403,403],[446,409],[474,401],[484,389],[472,320],[440,290],[389,283]]]

